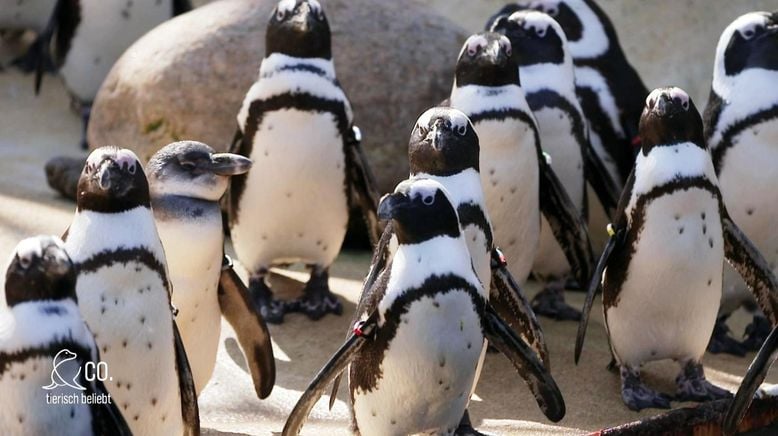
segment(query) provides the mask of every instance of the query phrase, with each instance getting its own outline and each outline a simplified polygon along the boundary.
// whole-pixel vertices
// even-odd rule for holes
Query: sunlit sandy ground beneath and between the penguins
[[[69,111],[68,97],[57,79],[47,77],[41,96],[35,98],[31,77],[8,70],[0,73],[0,258],[7,259],[23,237],[61,234],[67,227],[74,205],[49,190],[43,165],[54,155],[81,155],[76,146],[79,134],[79,119]],[[206,434],[280,432],[301,391],[340,345],[368,262],[368,253],[343,253],[333,267],[331,285],[344,301],[344,316],[313,323],[291,315],[283,325],[271,327],[278,377],[272,395],[264,401],[256,398],[233,332],[223,324],[216,370],[199,400]],[[297,272],[289,274],[305,278]],[[527,290],[532,293],[536,286],[530,283]],[[582,297],[573,294],[570,300],[580,306]],[[605,370],[609,353],[599,302],[595,307],[577,367],[573,365],[576,324],[541,321],[567,416],[558,424],[549,423],[507,359],[490,354],[471,403],[480,429],[500,434],[580,434],[659,413],[635,413],[622,404],[618,377]],[[742,332],[748,320],[738,313],[734,330]],[[714,383],[736,389],[752,357],[707,355],[706,373]],[[644,373],[651,385],[672,392],[676,372],[673,363],[660,362],[649,364]],[[768,381],[778,382],[778,371]],[[332,411],[325,400],[314,409],[304,434],[348,434],[346,390],[341,389]]]

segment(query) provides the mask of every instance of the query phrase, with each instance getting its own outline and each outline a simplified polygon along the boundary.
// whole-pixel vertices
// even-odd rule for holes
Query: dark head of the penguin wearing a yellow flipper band
[[[705,148],[702,118],[694,102],[681,88],[657,88],[646,98],[640,117],[643,155],[654,146],[691,142]]]

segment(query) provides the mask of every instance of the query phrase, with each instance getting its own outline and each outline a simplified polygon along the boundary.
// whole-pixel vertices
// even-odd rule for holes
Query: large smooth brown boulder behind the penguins
[[[97,95],[90,145],[132,148],[146,160],[181,139],[224,150],[264,56],[275,3],[210,3],[138,40]],[[413,0],[323,3],[338,78],[379,188],[389,191],[408,174],[407,144],[416,117],[448,95],[467,35]]]

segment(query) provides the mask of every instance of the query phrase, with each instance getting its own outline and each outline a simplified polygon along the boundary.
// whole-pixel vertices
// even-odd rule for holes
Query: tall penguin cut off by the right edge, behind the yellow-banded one
[[[705,109],[704,132],[721,194],[748,237],[755,241],[773,273],[778,273],[778,12],[751,12],[733,21],[716,48],[713,84]],[[731,268],[724,273],[724,295],[716,334],[709,349],[744,355],[761,345],[770,326],[757,315],[748,338],[740,343],[728,335],[726,319],[753,298]]]

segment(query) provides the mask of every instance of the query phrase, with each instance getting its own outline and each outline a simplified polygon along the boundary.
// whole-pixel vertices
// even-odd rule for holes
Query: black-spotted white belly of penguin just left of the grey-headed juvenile
[[[130,261],[79,275],[79,309],[112,380],[105,387],[134,434],[181,434],[173,321],[160,276]]]

